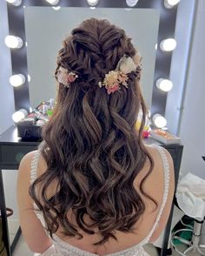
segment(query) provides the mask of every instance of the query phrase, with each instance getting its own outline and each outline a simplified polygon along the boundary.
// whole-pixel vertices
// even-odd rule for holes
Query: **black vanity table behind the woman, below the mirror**
[[[145,144],[151,145],[162,145],[161,143],[155,141],[152,138],[145,138]],[[7,131],[4,131],[3,134],[0,136],[0,210],[2,215],[2,222],[3,222],[3,241],[6,247],[8,256],[12,254],[17,245],[17,241],[21,235],[21,229],[18,228],[17,234],[13,243],[10,246],[10,239],[9,239],[9,229],[8,229],[8,222],[6,217],[6,203],[4,198],[4,191],[3,191],[3,177],[2,177],[2,170],[17,170],[18,165],[23,158],[23,156],[31,151],[36,150],[37,145],[39,142],[31,142],[31,141],[22,141],[21,138],[17,137],[17,127],[16,125],[11,126]],[[169,153],[171,154],[174,160],[175,166],[175,187],[177,185],[181,159],[182,159],[182,145],[162,145],[166,148]],[[11,171],[8,171],[11,172]],[[172,209],[169,215],[169,221],[166,226],[165,235],[163,238],[162,244],[162,252],[161,256],[167,255],[167,247],[169,243],[169,232],[171,228],[171,221],[173,215],[174,204],[172,205]]]

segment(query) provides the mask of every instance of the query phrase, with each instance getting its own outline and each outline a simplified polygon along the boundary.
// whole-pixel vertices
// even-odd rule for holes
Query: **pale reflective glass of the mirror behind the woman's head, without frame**
[[[159,28],[159,10],[122,8],[26,7],[24,10],[27,60],[30,74],[30,106],[56,98],[54,71],[56,55],[63,38],[89,17],[106,18],[126,31],[142,59],[142,92],[151,107],[155,72],[155,45]],[[33,22],[35,20],[35,23]]]

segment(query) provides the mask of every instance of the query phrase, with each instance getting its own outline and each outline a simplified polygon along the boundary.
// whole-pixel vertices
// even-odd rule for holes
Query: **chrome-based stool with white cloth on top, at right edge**
[[[184,225],[188,228],[181,228],[172,233],[171,245],[179,255],[192,255],[190,252],[196,252],[200,255],[205,255],[205,245],[201,244],[202,225],[205,219],[205,180],[188,173],[188,175],[179,182],[176,191],[177,206],[190,218],[194,219],[194,226]],[[191,240],[183,239],[179,236],[180,232],[191,232]],[[179,246],[176,246],[174,240],[179,240],[187,248],[182,251]]]

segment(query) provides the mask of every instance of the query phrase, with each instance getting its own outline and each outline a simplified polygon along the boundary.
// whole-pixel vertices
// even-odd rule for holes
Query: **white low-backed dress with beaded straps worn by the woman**
[[[163,163],[163,170],[164,170],[164,193],[163,193],[163,199],[162,199],[162,205],[160,208],[160,211],[155,219],[155,224],[150,230],[149,234],[145,239],[142,239],[142,241],[137,244],[136,246],[131,246],[128,249],[122,250],[117,253],[110,253],[106,254],[105,256],[149,256],[149,253],[146,253],[142,246],[149,243],[149,239],[151,238],[153,232],[155,231],[156,226],[158,225],[159,219],[161,218],[163,208],[166,204],[168,192],[169,192],[169,163],[166,156],[166,153],[164,152],[164,149],[160,146],[155,146],[155,148],[160,152],[160,155],[162,157],[162,163]],[[30,183],[33,183],[36,179],[36,169],[37,169],[37,161],[39,157],[40,152],[37,151],[34,158],[31,162],[31,169],[30,169]],[[36,208],[36,205],[35,205]],[[37,208],[36,208],[37,209]],[[36,212],[36,216],[38,219],[40,219],[43,226],[45,226],[45,222],[43,219],[42,212]],[[83,251],[82,249],[77,248],[76,246],[71,246],[68,243],[64,242],[62,239],[56,236],[56,234],[53,234],[53,245],[50,246],[44,253],[35,255],[41,255],[41,256],[97,256],[96,253],[89,253],[87,251]]]

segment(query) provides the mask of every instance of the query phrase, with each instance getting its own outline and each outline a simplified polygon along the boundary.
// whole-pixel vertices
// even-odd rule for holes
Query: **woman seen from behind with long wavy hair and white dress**
[[[56,109],[18,172],[31,251],[148,255],[142,246],[159,237],[169,217],[174,171],[169,152],[142,143],[141,71],[131,39],[107,20],[86,20],[63,42]]]

